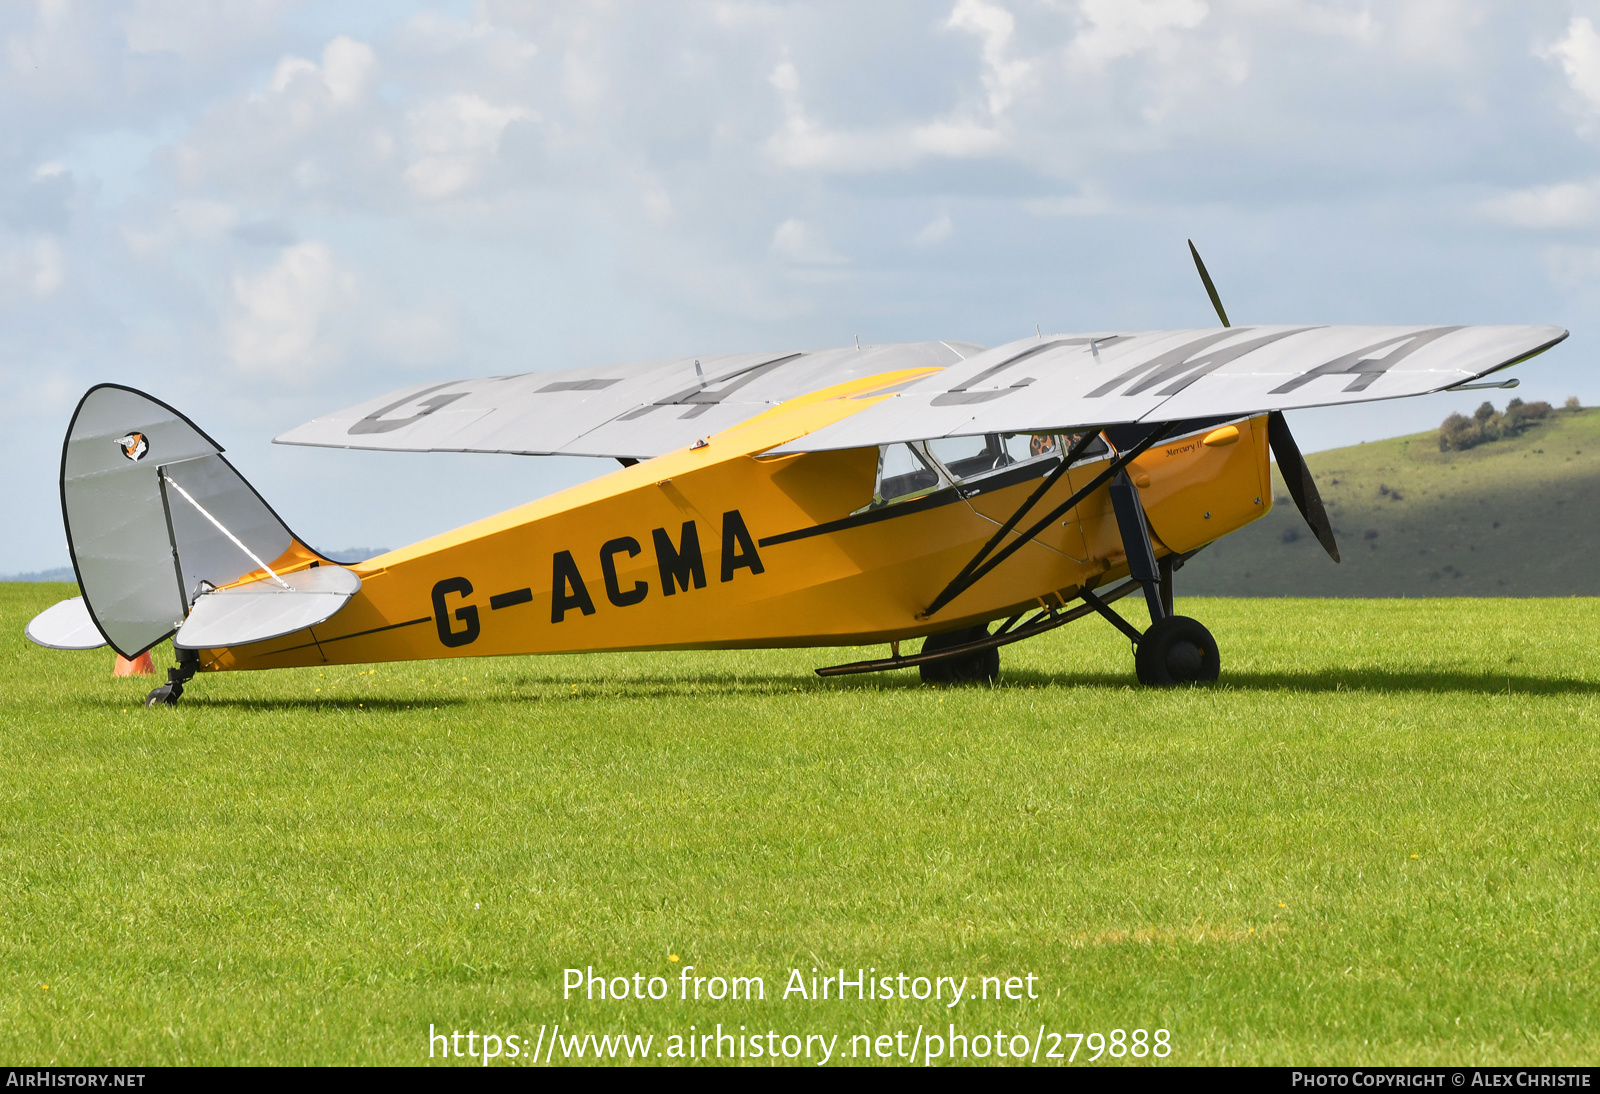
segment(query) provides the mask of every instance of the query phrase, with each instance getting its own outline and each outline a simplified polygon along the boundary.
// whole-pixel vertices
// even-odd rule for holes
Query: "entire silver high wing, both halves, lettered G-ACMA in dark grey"
[[[1558,326],[1232,326],[1054,334],[989,350],[907,342],[674,358],[421,384],[318,417],[277,443],[650,459],[832,384],[941,369],[771,451],[869,448],[1424,395],[1563,337]]]

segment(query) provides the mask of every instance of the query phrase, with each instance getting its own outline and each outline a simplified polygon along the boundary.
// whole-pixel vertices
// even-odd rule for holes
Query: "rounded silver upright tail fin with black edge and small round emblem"
[[[123,657],[179,632],[213,589],[253,577],[293,593],[306,582],[286,574],[334,568],[290,531],[222,457],[221,445],[166,403],[118,384],[90,389],[72,414],[61,453],[61,512],[83,603]],[[328,611],[288,613],[291,630],[326,619],[360,589],[355,574],[342,573],[349,579],[336,584],[349,592],[320,597]],[[282,601],[253,600],[262,603],[262,617],[232,609],[232,625],[221,630],[210,619],[216,613],[200,613],[208,617],[205,645],[286,633],[275,630],[288,625]],[[269,601],[277,606],[269,609]],[[190,645],[182,633],[176,641]]]

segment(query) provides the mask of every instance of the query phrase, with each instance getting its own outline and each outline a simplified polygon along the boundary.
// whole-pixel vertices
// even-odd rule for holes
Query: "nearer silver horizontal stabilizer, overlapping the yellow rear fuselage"
[[[344,608],[362,579],[344,566],[315,566],[195,598],[173,637],[182,649],[221,649],[315,627]]]

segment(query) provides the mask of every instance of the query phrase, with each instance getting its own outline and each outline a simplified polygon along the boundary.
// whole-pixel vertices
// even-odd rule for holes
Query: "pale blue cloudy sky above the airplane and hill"
[[[1555,323],[1600,403],[1600,0],[11,0],[0,573],[93,384],[314,547],[605,461],[275,446],[426,381],[1216,323]],[[1491,392],[1498,400],[1507,392]],[[1483,393],[1291,417],[1306,449]]]

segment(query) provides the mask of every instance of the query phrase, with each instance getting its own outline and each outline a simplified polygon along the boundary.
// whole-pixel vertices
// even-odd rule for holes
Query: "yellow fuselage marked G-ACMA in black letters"
[[[698,448],[354,565],[362,590],[331,619],[283,638],[202,651],[202,667],[859,645],[987,622],[1126,574],[1102,486],[923,619],[1038,475],[970,499],[944,489],[862,512],[878,449],[760,454],[920,374],[790,400]],[[1157,555],[1202,547],[1270,509],[1266,417],[1232,429],[1237,435],[1224,427],[1155,445],[1128,467]],[[1107,459],[1074,465],[1022,528]],[[278,566],[312,560],[296,545]]]

